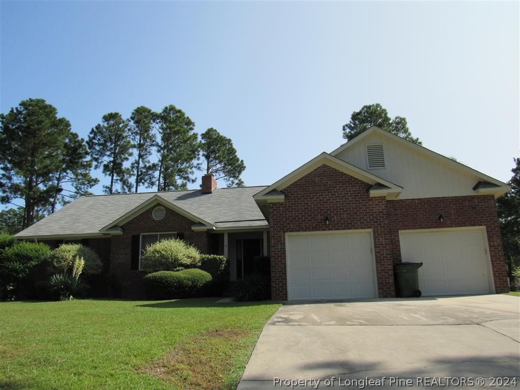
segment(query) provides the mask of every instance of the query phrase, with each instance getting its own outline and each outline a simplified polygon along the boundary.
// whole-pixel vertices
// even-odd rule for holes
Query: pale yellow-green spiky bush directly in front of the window
[[[183,240],[169,239],[148,245],[141,255],[142,269],[177,271],[200,266],[200,252]]]

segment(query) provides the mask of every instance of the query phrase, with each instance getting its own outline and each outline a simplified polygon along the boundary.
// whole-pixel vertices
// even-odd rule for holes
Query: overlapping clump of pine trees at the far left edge
[[[32,225],[42,210],[54,209],[55,200],[65,196],[61,194],[66,182],[74,188],[71,196],[95,183],[84,141],[57,114],[44,99],[22,100],[18,107],[0,114],[1,200],[15,206],[20,205],[14,200],[23,202],[22,228]]]

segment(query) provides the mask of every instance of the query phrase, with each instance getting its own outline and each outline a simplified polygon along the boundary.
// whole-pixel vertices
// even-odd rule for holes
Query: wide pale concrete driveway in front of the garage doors
[[[491,376],[520,376],[516,296],[286,304],[262,331],[238,389],[461,387],[479,377],[480,388],[496,388]]]

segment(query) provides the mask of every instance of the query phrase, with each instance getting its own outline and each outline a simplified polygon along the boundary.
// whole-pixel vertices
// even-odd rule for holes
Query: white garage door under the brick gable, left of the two
[[[289,300],[373,298],[370,231],[287,236]]]

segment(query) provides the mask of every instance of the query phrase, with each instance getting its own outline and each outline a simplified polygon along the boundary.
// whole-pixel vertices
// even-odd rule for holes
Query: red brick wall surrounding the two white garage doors
[[[395,296],[393,263],[400,261],[398,230],[486,226],[497,292],[506,291],[498,218],[492,196],[386,201],[370,198],[369,184],[321,165],[269,204],[273,300],[287,300],[285,233],[372,229],[379,297]],[[445,222],[439,226],[438,215]],[[325,224],[328,216],[330,224]]]

